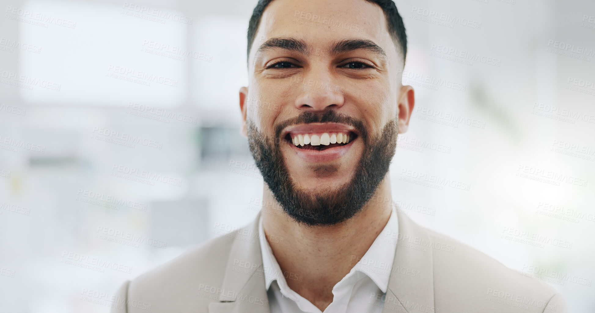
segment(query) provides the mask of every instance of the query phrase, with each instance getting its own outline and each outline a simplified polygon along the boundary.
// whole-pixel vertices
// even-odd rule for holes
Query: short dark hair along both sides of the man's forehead
[[[248,24],[247,58],[250,57],[250,48],[252,48],[254,36],[256,35],[256,30],[258,29],[258,25],[260,24],[262,18],[262,12],[264,12],[265,8],[267,8],[268,4],[270,4],[272,1],[273,0],[258,0],[258,4],[256,4],[256,7],[252,12],[252,17],[250,17],[250,23]],[[384,11],[384,17],[386,17],[387,29],[389,30],[390,37],[393,39],[393,42],[399,44],[401,51],[403,52],[403,62],[405,62],[405,57],[407,55],[407,34],[405,33],[403,18],[401,18],[401,15],[397,10],[397,6],[394,4],[393,0],[365,1],[377,4]]]

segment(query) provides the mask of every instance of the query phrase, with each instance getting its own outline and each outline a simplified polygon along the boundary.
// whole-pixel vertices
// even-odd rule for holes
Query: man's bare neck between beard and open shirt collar
[[[263,199],[265,203],[276,204],[267,185]],[[333,286],[368,251],[389,221],[391,211],[392,196],[387,173],[372,199],[358,214],[343,223],[307,227],[291,219],[284,211],[282,214],[271,214],[271,210],[262,210],[262,227],[267,238],[283,238],[283,241],[269,241],[269,245],[287,285],[324,311],[333,302]]]

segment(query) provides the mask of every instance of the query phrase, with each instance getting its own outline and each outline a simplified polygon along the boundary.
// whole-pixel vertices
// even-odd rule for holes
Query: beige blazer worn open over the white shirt
[[[386,296],[371,295],[383,313],[566,312],[562,296],[461,242],[399,214],[397,249]],[[125,282],[113,313],[268,313],[260,213],[248,226]],[[292,279],[290,277],[290,279]]]

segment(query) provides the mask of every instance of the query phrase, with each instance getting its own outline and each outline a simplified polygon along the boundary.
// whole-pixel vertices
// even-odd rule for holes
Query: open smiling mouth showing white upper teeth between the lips
[[[328,148],[342,147],[358,137],[355,132],[322,132],[307,134],[292,134],[285,136],[290,144],[304,150],[327,150]]]

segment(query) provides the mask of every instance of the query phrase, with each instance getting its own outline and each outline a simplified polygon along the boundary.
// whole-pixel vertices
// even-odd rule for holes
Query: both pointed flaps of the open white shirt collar
[[[387,233],[389,236],[387,236]],[[389,285],[390,272],[393,267],[394,252],[396,251],[396,242],[390,240],[390,234],[399,233],[399,222],[397,221],[397,214],[393,209],[390,213],[389,222],[386,223],[384,229],[364,256],[358,261],[358,263],[351,269],[347,276],[352,276],[355,271],[366,274],[377,286],[386,292]],[[280,286],[286,284],[285,277],[281,271],[281,267],[275,260],[273,250],[268,244],[265,238],[264,229],[262,228],[262,216],[258,222],[258,235],[260,240],[261,252],[262,252],[262,266],[264,270],[265,286],[267,290],[271,286],[274,280]],[[283,287],[282,287],[283,289]]]

